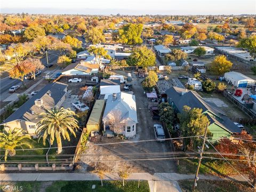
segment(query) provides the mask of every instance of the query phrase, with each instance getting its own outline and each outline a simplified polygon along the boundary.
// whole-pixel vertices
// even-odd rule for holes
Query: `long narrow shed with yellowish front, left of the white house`
[[[90,134],[92,131],[100,131],[104,109],[105,100],[96,100],[89,120],[86,124],[87,133]]]

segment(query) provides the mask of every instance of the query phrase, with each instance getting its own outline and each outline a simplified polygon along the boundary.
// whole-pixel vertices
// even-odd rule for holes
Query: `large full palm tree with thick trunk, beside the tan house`
[[[38,115],[41,117],[41,121],[37,123],[36,134],[41,133],[39,139],[43,137],[43,145],[47,136],[50,136],[50,143],[53,145],[53,141],[56,138],[58,146],[58,154],[62,151],[61,136],[64,140],[70,141],[69,132],[76,137],[75,131],[79,128],[77,120],[74,116],[77,116],[70,108],[64,109],[63,107],[54,107],[51,110],[46,109],[45,113]],[[75,131],[74,131],[75,130]]]

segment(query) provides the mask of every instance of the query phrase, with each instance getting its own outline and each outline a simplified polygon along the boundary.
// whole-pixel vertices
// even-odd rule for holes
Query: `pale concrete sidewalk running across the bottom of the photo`
[[[148,180],[148,181],[178,181],[183,179],[194,179],[194,174],[178,173],[132,173],[129,180]],[[119,180],[117,173],[106,174],[105,180]],[[219,178],[213,175],[199,175],[201,180],[237,180],[244,181],[242,177]],[[246,178],[247,179],[247,178]],[[92,181],[100,180],[97,174],[93,173],[1,173],[0,181]]]

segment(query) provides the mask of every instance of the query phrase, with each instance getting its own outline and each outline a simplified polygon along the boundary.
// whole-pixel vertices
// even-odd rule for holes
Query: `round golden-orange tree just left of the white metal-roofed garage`
[[[230,71],[233,63],[227,60],[225,55],[218,55],[210,63],[210,70],[215,75],[223,75],[226,72]]]

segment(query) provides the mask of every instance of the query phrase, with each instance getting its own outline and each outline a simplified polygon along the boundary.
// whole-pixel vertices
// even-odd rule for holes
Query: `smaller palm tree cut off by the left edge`
[[[5,149],[4,160],[7,161],[7,156],[11,157],[16,155],[15,148],[22,146],[28,146],[31,148],[29,143],[25,143],[22,140],[25,138],[31,139],[29,134],[21,135],[22,129],[13,129],[8,132],[4,129],[3,132],[0,132],[0,148]],[[23,149],[23,148],[22,148]]]

